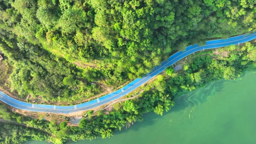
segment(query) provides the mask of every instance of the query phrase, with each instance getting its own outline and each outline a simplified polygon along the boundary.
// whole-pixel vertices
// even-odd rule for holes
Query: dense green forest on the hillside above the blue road
[[[0,0],[0,50],[21,98],[76,101],[171,53],[255,31],[254,0]]]

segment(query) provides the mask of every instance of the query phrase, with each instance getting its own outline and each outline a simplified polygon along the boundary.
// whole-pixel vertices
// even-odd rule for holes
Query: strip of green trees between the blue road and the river
[[[133,122],[143,121],[143,113],[155,112],[162,115],[164,111],[169,111],[174,106],[174,98],[177,96],[184,95],[216,80],[236,79],[247,70],[256,71],[255,55],[255,42],[198,52],[195,53],[195,56],[189,55],[187,59],[180,61],[183,65],[181,71],[174,73],[172,67],[168,67],[165,71],[166,74],[159,75],[137,99],[115,104],[113,108],[97,111],[93,115],[91,113],[89,119],[81,120],[79,127],[67,126],[67,122],[57,125],[54,121],[31,119],[11,112],[4,105],[1,105],[0,114],[2,115],[0,117],[5,117],[5,120],[25,123],[52,134],[51,137],[45,133],[40,133],[40,137],[31,135],[26,140],[48,140],[55,144],[61,144],[68,140],[107,138],[112,136],[117,129],[129,127]],[[26,131],[34,132],[29,129]],[[12,135],[4,135],[4,137],[12,137]]]

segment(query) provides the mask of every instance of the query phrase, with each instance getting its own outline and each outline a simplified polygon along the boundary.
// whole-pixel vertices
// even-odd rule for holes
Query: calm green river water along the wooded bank
[[[113,137],[68,144],[256,144],[255,92],[256,73],[221,80],[180,96],[163,116],[145,114]]]

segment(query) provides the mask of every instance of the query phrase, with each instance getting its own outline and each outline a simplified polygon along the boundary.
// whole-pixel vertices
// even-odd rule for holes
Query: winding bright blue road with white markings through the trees
[[[65,113],[65,114],[77,113],[79,111],[86,111],[86,110],[90,110],[92,108],[98,107],[100,105],[106,104],[108,102],[114,101],[115,99],[121,98],[122,96],[128,94],[129,92],[143,85],[143,83],[146,83],[152,77],[164,71],[166,67],[176,63],[180,59],[185,58],[186,56],[194,52],[198,52],[204,49],[214,49],[214,48],[220,48],[220,47],[225,47],[230,45],[237,45],[240,43],[248,42],[253,39],[256,39],[256,32],[254,32],[253,34],[244,34],[241,36],[231,37],[228,39],[207,41],[206,45],[204,46],[199,46],[197,44],[188,46],[184,52],[180,51],[170,56],[166,61],[162,62],[161,65],[153,68],[153,70],[146,76],[135,79],[128,85],[124,86],[123,88],[111,94],[102,96],[100,98],[94,99],[89,102],[85,102],[83,104],[77,104],[72,106],[30,104],[27,102],[18,101],[14,98],[11,98],[10,96],[4,94],[1,91],[0,91],[0,100],[12,107],[22,109],[22,110],[27,110],[27,111],[36,111],[36,112],[44,112],[44,113]]]

